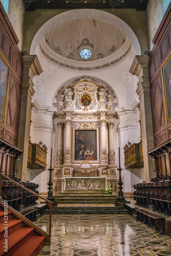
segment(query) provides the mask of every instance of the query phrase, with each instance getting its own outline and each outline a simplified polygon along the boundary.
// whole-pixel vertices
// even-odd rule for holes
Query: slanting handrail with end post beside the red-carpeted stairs
[[[13,183],[15,183],[16,185],[26,189],[27,191],[29,191],[30,193],[32,193],[33,195],[37,196],[37,197],[40,197],[41,199],[45,200],[46,202],[48,202],[50,204],[50,214],[49,214],[49,244],[51,242],[51,219],[52,219],[52,202],[49,201],[48,199],[44,198],[44,197],[41,197],[39,196],[38,194],[36,194],[34,191],[28,189],[27,187],[19,184],[18,182],[12,180],[11,178],[9,178],[8,176],[4,175],[4,174],[0,174],[1,176],[1,183],[0,183],[0,196],[1,196],[1,188],[2,188],[2,177],[6,178],[7,180],[9,181],[12,181]]]

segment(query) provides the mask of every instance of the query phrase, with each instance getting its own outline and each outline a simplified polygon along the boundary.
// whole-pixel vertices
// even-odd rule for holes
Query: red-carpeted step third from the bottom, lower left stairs
[[[0,224],[0,241],[3,240],[5,234],[5,227],[8,227],[8,236],[19,228],[22,228],[22,220],[9,220],[8,223]]]

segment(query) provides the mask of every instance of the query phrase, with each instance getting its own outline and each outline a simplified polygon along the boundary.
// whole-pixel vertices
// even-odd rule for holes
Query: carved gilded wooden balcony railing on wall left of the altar
[[[47,147],[41,147],[29,140],[27,166],[31,169],[46,169]]]

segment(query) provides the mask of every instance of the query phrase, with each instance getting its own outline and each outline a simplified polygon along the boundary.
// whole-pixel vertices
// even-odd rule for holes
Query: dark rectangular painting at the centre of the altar
[[[97,160],[96,130],[75,130],[75,160]]]

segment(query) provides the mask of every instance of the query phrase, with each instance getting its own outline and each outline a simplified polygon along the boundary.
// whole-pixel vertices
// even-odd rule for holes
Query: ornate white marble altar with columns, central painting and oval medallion
[[[56,102],[53,195],[67,190],[104,191],[108,184],[113,184],[113,194],[117,195],[117,114],[113,91],[84,76],[67,88],[63,86]]]

